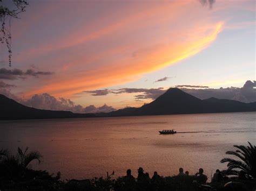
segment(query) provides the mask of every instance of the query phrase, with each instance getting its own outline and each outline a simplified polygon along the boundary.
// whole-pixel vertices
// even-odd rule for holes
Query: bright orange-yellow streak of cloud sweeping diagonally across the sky
[[[138,79],[142,74],[170,66],[202,51],[217,38],[222,28],[223,22],[208,26],[196,25],[190,31],[181,34],[181,37],[185,37],[184,40],[165,43],[166,39],[162,39],[162,43],[139,49],[134,56],[123,55],[122,58],[110,60],[100,67],[92,67],[88,70],[78,68],[75,75],[71,73],[63,74],[59,78],[57,76],[57,79],[51,79],[45,86],[33,88],[25,95],[50,93],[69,97],[83,90],[113,86]],[[83,61],[79,62],[81,64]],[[76,63],[73,65],[76,66]]]

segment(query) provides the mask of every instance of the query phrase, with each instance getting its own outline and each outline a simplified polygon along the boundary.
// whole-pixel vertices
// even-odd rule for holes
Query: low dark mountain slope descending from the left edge
[[[94,114],[74,114],[71,111],[30,108],[0,94],[0,119],[78,118],[94,116]]]

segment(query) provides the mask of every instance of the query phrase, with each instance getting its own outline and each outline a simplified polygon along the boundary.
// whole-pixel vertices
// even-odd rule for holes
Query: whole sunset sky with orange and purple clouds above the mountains
[[[255,80],[254,0],[28,2],[11,67],[0,46],[0,93],[26,105],[139,107],[170,87]]]

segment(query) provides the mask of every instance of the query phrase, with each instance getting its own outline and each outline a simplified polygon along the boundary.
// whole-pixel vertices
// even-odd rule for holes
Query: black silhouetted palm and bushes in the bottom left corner
[[[2,190],[58,190],[62,186],[60,172],[53,176],[46,171],[35,171],[29,168],[30,162],[41,162],[42,155],[29,148],[18,147],[16,154],[6,149],[0,150],[0,189]]]

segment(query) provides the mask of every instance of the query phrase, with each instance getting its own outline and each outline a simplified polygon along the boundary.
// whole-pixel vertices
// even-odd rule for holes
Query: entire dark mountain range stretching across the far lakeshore
[[[74,114],[71,111],[52,111],[26,107],[0,94],[0,119],[45,119],[78,117],[113,117],[171,114],[208,114],[217,112],[256,111],[256,102],[242,103],[214,97],[200,100],[178,88],[170,88],[151,103],[140,108],[125,108],[109,113]]]

